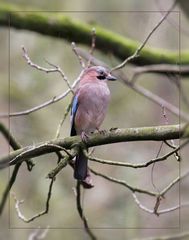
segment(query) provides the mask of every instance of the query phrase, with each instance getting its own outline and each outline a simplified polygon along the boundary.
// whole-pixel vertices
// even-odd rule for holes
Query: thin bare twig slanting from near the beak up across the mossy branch
[[[126,58],[121,64],[117,65],[116,67],[111,69],[112,71],[121,69],[123,67],[125,67],[125,65],[133,60],[134,58],[138,57],[140,55],[140,52],[142,51],[142,49],[144,48],[144,46],[146,45],[146,43],[148,42],[149,38],[152,36],[152,34],[156,31],[156,29],[161,25],[162,22],[164,22],[164,20],[167,18],[167,16],[169,15],[169,13],[173,10],[173,8],[176,5],[176,0],[174,1],[173,5],[171,6],[171,8],[169,9],[169,11],[166,12],[166,14],[161,18],[161,20],[155,25],[155,27],[150,31],[150,33],[148,34],[148,36],[146,37],[146,39],[143,41],[143,43],[136,49],[136,51],[134,52],[133,55],[131,55],[130,57]]]

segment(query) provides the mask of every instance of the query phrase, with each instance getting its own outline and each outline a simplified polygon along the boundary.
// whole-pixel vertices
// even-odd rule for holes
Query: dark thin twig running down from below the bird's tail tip
[[[77,185],[76,185],[76,205],[77,205],[77,210],[78,210],[79,216],[80,216],[81,220],[83,221],[83,225],[84,225],[84,229],[85,229],[86,233],[88,234],[90,239],[97,240],[97,237],[94,235],[94,233],[89,228],[88,221],[83,213],[83,209],[81,206],[81,183],[79,181],[77,181]]]

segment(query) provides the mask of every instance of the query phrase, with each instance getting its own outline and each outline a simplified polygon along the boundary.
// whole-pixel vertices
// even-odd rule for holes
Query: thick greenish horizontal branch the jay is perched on
[[[129,141],[164,141],[189,137],[189,127],[180,125],[166,125],[156,127],[111,129],[105,134],[92,134],[86,143],[87,147],[94,147],[110,143],[129,142]],[[11,152],[8,156],[0,159],[0,168],[14,165],[28,158],[34,158],[50,152],[57,152],[60,148],[72,149],[75,146],[83,146],[79,136],[67,137],[39,143],[36,146],[28,146]]]

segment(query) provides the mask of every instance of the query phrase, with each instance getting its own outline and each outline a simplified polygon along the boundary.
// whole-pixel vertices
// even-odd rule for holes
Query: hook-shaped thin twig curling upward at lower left
[[[33,217],[31,218],[26,218],[20,210],[20,204],[24,203],[24,200],[17,200],[16,195],[13,194],[14,200],[15,200],[15,209],[17,211],[18,217],[26,222],[29,223],[33,220],[35,220],[36,218],[41,217],[42,215],[45,215],[49,212],[49,203],[50,203],[50,199],[51,199],[51,194],[52,194],[52,187],[53,187],[53,183],[54,183],[54,178],[51,179],[50,184],[49,184],[49,190],[48,190],[48,194],[47,194],[47,200],[46,200],[46,204],[45,204],[45,209],[37,214],[35,214]]]

